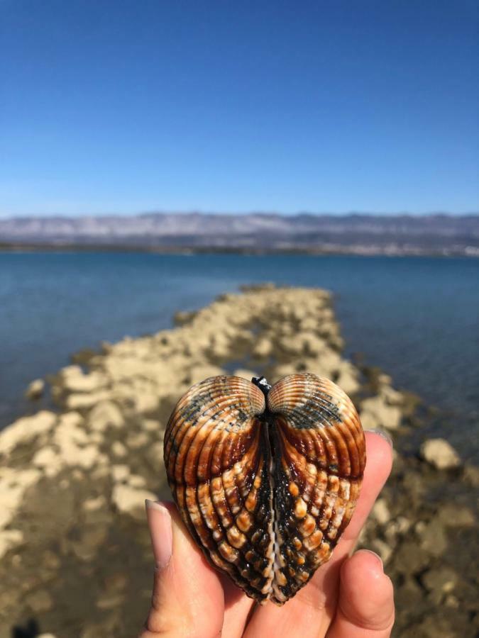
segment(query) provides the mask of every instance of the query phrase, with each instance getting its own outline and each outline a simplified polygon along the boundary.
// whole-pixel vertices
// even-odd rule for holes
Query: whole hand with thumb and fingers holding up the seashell
[[[140,638],[387,638],[393,590],[376,554],[350,556],[392,465],[390,444],[366,432],[367,463],[356,510],[331,560],[283,607],[256,605],[211,568],[172,503],[147,502],[157,569]]]

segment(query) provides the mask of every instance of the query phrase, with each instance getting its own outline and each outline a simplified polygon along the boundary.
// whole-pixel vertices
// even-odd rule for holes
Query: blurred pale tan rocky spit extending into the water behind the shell
[[[57,410],[0,435],[0,638],[135,635],[152,574],[144,500],[169,498],[162,440],[177,398],[211,375],[275,381],[296,370],[336,381],[365,428],[395,440],[361,540],[395,581],[395,634],[474,635],[478,470],[441,440],[414,449],[417,399],[341,357],[329,293],[246,288],[175,320],[78,354],[50,379]]]

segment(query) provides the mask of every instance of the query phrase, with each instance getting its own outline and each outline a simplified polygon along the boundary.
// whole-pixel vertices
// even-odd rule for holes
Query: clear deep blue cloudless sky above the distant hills
[[[479,210],[476,0],[0,0],[0,216]]]

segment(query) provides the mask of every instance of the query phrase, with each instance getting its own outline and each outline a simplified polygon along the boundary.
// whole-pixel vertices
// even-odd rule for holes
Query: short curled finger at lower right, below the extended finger
[[[341,566],[338,607],[327,638],[389,638],[394,593],[377,554],[361,549]]]

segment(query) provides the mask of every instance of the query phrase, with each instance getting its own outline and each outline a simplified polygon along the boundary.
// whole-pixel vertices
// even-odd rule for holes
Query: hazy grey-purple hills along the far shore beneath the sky
[[[144,213],[0,219],[4,248],[479,256],[479,213]]]

